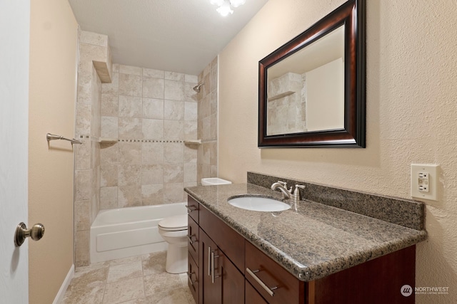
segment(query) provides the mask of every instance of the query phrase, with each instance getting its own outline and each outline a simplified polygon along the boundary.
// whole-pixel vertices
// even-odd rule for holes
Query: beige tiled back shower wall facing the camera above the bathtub
[[[184,201],[196,185],[196,75],[113,65],[103,83],[100,209]]]

